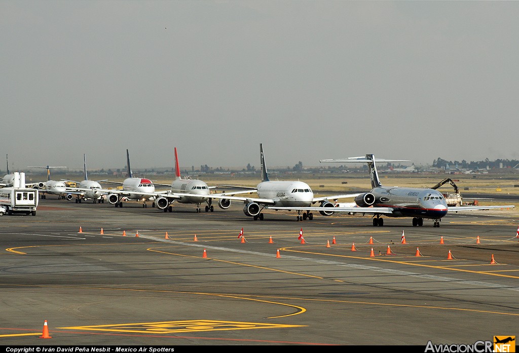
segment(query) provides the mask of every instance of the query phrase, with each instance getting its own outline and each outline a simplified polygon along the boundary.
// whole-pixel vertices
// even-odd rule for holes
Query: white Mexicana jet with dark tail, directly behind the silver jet
[[[230,200],[243,201],[243,213],[246,216],[253,217],[254,220],[263,220],[262,210],[268,208],[281,207],[283,209],[297,210],[297,221],[306,219],[312,220],[313,214],[307,210],[316,202],[321,203],[319,213],[323,216],[330,216],[334,211],[326,210],[326,208],[334,208],[334,203],[329,200],[337,200],[347,197],[355,197],[358,194],[331,195],[325,197],[314,197],[312,189],[306,182],[291,180],[270,180],[268,177],[267,166],[265,164],[265,154],[263,152],[263,144],[260,144],[260,162],[261,162],[261,182],[256,188],[249,188],[249,192],[256,192],[258,198],[242,197],[242,196],[217,196],[220,203],[227,203]],[[233,187],[233,186],[224,186]],[[244,189],[242,187],[237,187]],[[223,200],[222,200],[223,199]],[[280,208],[280,209],[281,209]],[[276,209],[276,208],[274,208]],[[306,210],[306,212],[302,211]]]

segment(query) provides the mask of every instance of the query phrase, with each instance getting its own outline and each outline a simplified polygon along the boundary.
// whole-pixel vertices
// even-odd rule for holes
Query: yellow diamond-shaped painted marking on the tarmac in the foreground
[[[96,325],[96,326],[59,327],[58,329],[166,334],[166,333],[186,333],[186,332],[204,332],[204,331],[280,329],[280,328],[293,328],[293,327],[305,327],[305,326],[304,325],[263,323],[263,322],[240,322],[240,321],[220,321],[220,320],[182,320],[182,321],[108,324],[108,325]]]

